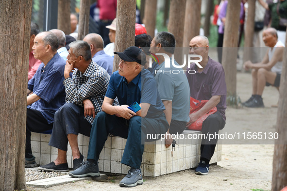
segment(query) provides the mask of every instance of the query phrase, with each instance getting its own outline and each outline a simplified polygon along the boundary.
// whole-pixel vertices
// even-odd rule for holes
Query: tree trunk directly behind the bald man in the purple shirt
[[[190,40],[199,35],[201,25],[201,5],[202,0],[186,1],[186,16],[184,29],[183,47],[188,47]]]

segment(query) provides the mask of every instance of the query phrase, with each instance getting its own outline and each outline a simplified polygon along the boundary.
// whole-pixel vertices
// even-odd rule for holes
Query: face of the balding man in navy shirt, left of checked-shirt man
[[[48,45],[45,46],[42,40],[44,37],[45,35],[43,33],[36,35],[34,38],[34,45],[32,47],[35,59],[38,59],[41,61],[47,53],[47,46],[48,46]]]

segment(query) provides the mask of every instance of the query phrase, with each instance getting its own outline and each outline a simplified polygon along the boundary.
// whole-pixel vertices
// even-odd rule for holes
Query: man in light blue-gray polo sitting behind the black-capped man
[[[189,121],[190,92],[186,75],[182,68],[176,68],[171,63],[174,53],[175,38],[170,32],[158,32],[152,39],[150,51],[158,55],[158,66],[155,68],[155,80],[160,98],[165,105],[169,130],[166,136],[166,147],[172,143],[169,134],[182,133]],[[168,57],[168,60],[165,59]],[[175,65],[177,64],[174,61]]]

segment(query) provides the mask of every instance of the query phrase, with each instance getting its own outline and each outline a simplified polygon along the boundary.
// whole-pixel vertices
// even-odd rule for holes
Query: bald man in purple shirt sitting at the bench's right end
[[[197,100],[209,100],[199,111],[189,115],[190,121],[187,123],[187,126],[194,123],[215,106],[217,107],[217,112],[209,115],[203,121],[202,133],[205,135],[218,133],[219,129],[224,127],[226,120],[226,83],[224,70],[221,64],[208,57],[208,50],[209,42],[205,36],[192,38],[189,43],[189,54],[201,55],[203,60],[199,64],[203,68],[199,68],[193,63],[186,71],[190,96]],[[195,70],[196,73],[188,73],[189,70]],[[216,143],[217,139],[211,142],[202,140],[200,163],[195,169],[195,174],[208,174],[209,161],[214,154]]]

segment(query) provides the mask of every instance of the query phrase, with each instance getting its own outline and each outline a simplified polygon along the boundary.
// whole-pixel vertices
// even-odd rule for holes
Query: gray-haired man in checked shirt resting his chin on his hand
[[[58,148],[53,162],[42,165],[40,170],[68,171],[67,150],[70,143],[74,170],[83,162],[84,156],[78,147],[78,134],[90,136],[94,118],[101,111],[110,76],[101,66],[92,61],[88,43],[74,41],[69,44],[68,61],[64,71],[66,104],[55,113],[49,145]],[[69,73],[75,69],[72,78]]]

